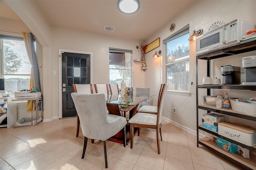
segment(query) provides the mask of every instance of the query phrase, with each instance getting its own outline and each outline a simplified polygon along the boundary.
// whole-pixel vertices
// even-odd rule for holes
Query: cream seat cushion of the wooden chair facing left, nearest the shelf
[[[142,125],[156,125],[157,115],[150,113],[136,113],[128,122]]]

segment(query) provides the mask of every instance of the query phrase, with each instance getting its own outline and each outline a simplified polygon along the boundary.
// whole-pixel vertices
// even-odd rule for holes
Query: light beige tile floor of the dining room
[[[88,141],[81,159],[83,135],[76,137],[76,118],[41,122],[36,126],[0,128],[0,170],[102,170],[103,142]],[[196,136],[163,120],[161,154],[156,131],[142,128],[134,148],[107,141],[108,170],[238,170],[204,147]]]

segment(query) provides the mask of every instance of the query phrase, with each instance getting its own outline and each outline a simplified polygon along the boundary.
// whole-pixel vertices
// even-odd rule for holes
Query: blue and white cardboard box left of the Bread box
[[[226,117],[216,113],[202,115],[202,127],[218,132],[218,123],[226,121]]]

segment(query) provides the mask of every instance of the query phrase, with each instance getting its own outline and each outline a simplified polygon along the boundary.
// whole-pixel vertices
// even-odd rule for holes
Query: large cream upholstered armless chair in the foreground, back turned
[[[85,155],[88,138],[104,141],[105,167],[108,168],[106,140],[122,129],[125,131],[126,119],[122,116],[107,114],[104,94],[71,93],[71,97],[80,117],[84,135],[82,158]]]

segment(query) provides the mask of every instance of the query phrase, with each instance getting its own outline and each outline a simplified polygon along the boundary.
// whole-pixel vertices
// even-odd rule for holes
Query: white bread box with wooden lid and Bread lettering
[[[256,129],[231,122],[218,124],[218,134],[247,146],[256,144]]]

